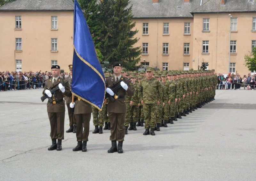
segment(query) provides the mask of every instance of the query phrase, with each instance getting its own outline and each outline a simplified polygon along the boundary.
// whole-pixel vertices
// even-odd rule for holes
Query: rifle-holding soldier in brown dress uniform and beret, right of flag
[[[112,143],[108,153],[117,151],[118,153],[123,153],[124,119],[126,113],[125,92],[127,92],[129,96],[133,95],[130,83],[127,82],[126,84],[123,82],[127,81],[128,79],[121,75],[122,68],[123,66],[121,63],[114,64],[114,76],[108,77],[106,79],[106,92],[110,96],[114,96],[116,99],[114,102],[108,101],[108,116],[111,123],[111,135],[109,139]],[[122,87],[119,88],[116,92],[113,92],[110,88],[120,81]],[[116,141],[118,141],[118,147],[116,145]]]

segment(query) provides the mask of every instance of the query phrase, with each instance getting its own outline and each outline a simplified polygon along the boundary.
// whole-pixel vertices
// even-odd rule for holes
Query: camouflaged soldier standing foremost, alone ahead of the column
[[[163,90],[159,81],[153,77],[153,71],[153,68],[147,68],[146,78],[141,80],[141,84],[138,89],[139,101],[143,105],[146,128],[143,135],[156,135],[154,132],[156,127],[156,110],[157,106],[160,104],[160,101],[163,101],[161,100],[163,98]]]

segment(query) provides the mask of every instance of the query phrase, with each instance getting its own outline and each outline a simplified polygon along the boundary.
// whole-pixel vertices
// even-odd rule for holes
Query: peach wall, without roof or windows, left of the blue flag
[[[21,30],[15,29],[15,16],[21,16]],[[51,29],[51,16],[58,17],[58,30]],[[51,60],[68,71],[73,60],[73,11],[1,11],[0,71],[50,71]],[[22,38],[22,51],[15,51]],[[51,38],[58,39],[58,51],[51,51]]]

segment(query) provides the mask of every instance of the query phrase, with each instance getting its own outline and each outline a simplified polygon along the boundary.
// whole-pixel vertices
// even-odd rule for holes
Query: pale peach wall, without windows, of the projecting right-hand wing
[[[231,31],[231,40],[236,40],[236,53],[230,54],[230,63],[236,63],[235,73],[247,75],[250,71],[244,65],[244,55],[250,54],[252,40],[256,40],[256,31],[252,32],[252,18],[256,13],[197,13],[194,14],[193,60],[192,67],[209,63],[209,69],[216,73],[228,74],[230,18],[237,18],[237,31]],[[203,18],[210,18],[210,32],[202,32]],[[209,54],[202,53],[203,40],[209,40]]]

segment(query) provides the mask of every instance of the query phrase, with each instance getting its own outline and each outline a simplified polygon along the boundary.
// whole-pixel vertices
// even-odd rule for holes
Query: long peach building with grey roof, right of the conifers
[[[256,46],[255,0],[132,0],[140,65],[247,74],[244,55]],[[231,29],[231,33],[230,33]]]

